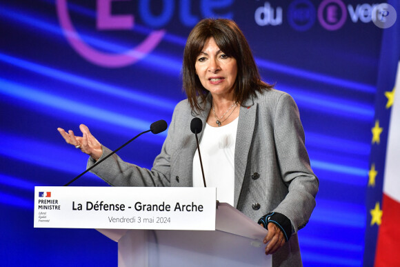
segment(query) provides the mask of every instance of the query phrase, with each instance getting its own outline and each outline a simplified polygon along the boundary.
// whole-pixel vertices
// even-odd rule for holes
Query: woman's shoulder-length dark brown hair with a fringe
[[[250,46],[237,24],[230,19],[203,19],[190,32],[183,52],[183,89],[186,91],[192,110],[202,110],[198,97],[204,102],[208,95],[208,90],[201,85],[194,65],[204,43],[210,37],[214,38],[223,53],[234,57],[237,61],[235,101],[243,103],[254,97],[257,91],[262,92],[272,88],[272,85],[261,81]]]

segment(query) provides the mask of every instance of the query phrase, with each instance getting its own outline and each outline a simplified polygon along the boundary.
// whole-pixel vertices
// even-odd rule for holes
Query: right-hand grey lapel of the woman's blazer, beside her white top
[[[257,105],[254,105],[252,99],[249,99],[240,107],[236,145],[234,148],[234,207],[237,207],[239,202],[256,115]]]

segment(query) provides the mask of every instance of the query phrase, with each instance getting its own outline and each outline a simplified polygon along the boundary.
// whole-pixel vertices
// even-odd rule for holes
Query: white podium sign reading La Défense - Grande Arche
[[[34,228],[215,230],[215,188],[34,188]]]

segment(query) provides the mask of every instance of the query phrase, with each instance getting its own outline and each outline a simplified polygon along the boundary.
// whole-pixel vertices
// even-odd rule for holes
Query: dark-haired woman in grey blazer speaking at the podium
[[[304,144],[299,110],[290,95],[261,81],[246,38],[228,19],[203,19],[189,34],[183,88],[151,170],[112,155],[92,170],[112,186],[203,186],[194,117],[203,121],[200,150],[206,183],[268,229],[272,266],[301,266],[297,231],[315,206],[319,181]],[[68,144],[90,155],[88,167],[110,154],[89,129],[82,137],[58,128]]]

